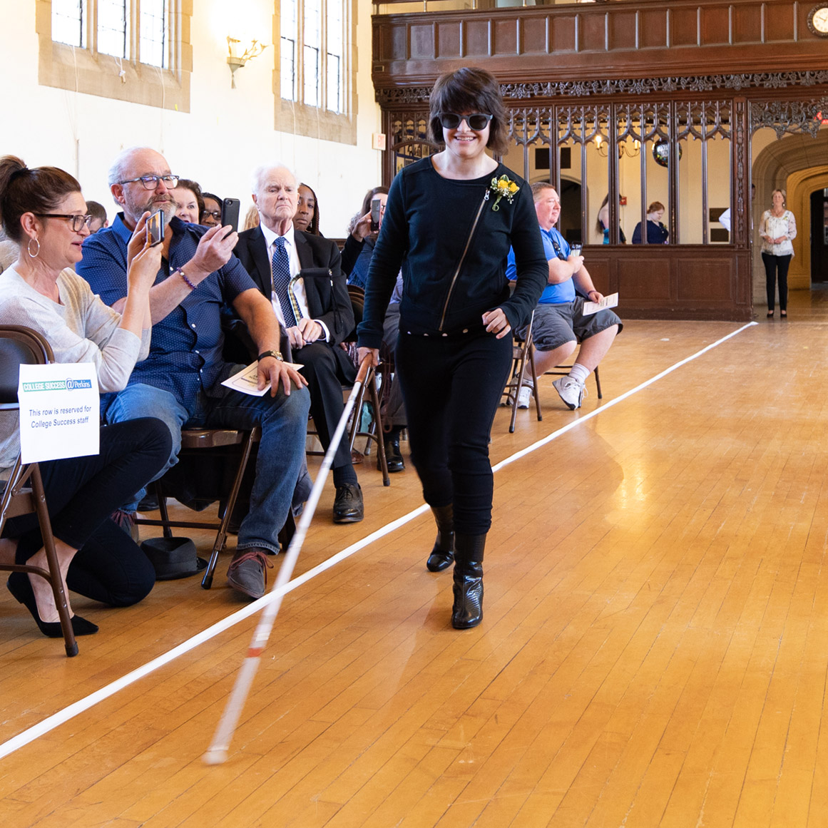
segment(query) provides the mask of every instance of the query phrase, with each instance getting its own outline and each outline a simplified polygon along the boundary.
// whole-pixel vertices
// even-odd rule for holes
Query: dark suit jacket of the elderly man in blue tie
[[[329,344],[338,345],[354,330],[354,311],[348,286],[341,268],[339,248],[329,238],[295,230],[296,253],[311,319],[325,323],[330,332]],[[272,272],[264,233],[260,227],[238,234],[233,251],[244,269],[269,300],[272,294]]]

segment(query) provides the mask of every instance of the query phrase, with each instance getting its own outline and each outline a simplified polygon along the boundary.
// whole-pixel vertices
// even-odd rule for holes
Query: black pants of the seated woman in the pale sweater
[[[170,430],[144,418],[101,429],[100,452],[40,464],[55,537],[78,549],[66,575],[73,592],[113,606],[144,598],[155,570],[132,538],[109,515],[166,463]],[[17,537],[17,562],[43,546],[35,514],[13,517],[3,537]]]

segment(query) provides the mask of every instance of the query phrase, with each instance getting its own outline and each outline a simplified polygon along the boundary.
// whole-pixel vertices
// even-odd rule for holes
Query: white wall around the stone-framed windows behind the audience
[[[238,197],[243,211],[250,203],[253,168],[281,160],[314,188],[322,233],[344,236],[365,190],[380,182],[381,153],[371,149],[371,133],[380,128],[371,83],[372,5],[357,2],[355,147],[296,136],[291,123],[274,130],[273,46],[238,70],[238,88],[230,88],[226,37],[242,29],[238,36],[249,31],[269,43],[273,5],[267,0],[193,3],[190,113],[181,113],[39,85],[35,3],[3,0],[0,154],[21,156],[29,166],[51,164],[70,171],[84,195],[105,205],[110,218],[116,206],[106,173],[123,147],[155,147],[177,175],[195,179],[205,190]]]

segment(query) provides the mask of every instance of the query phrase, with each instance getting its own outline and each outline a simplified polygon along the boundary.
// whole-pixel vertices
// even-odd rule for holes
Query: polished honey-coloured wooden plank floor
[[[761,309],[759,312],[764,316]],[[604,401],[498,412],[484,623],[449,625],[450,573],[417,517],[286,596],[229,761],[201,762],[255,619],[0,760],[3,828],[828,825],[828,304],[737,330],[631,321]],[[363,523],[421,503],[412,470],[360,470]],[[201,537],[200,547],[209,543]],[[63,656],[0,596],[0,742],[239,609],[156,585]]]

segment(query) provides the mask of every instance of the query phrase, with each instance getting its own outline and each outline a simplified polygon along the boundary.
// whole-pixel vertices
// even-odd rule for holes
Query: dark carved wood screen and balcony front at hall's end
[[[561,231],[592,245],[599,289],[621,291],[637,316],[749,319],[751,136],[813,135],[828,113],[828,49],[807,12],[794,0],[639,0],[375,16],[373,81],[392,150],[383,177],[433,152],[436,77],[485,66],[509,111],[504,162],[556,185]],[[645,249],[646,233],[622,244],[655,201],[667,244]]]

